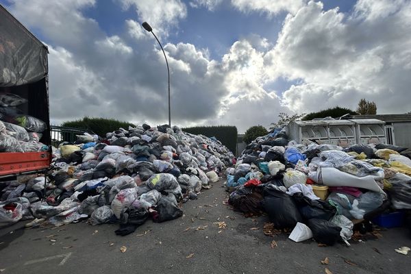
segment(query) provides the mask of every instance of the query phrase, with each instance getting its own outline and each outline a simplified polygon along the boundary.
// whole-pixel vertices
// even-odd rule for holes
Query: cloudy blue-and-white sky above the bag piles
[[[49,47],[51,121],[269,126],[279,112],[411,111],[409,0],[0,0]]]

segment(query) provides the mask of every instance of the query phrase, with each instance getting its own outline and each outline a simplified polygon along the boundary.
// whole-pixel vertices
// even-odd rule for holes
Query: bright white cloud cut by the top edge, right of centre
[[[232,0],[232,5],[241,12],[261,12],[274,16],[279,12],[295,14],[306,2],[306,0]]]

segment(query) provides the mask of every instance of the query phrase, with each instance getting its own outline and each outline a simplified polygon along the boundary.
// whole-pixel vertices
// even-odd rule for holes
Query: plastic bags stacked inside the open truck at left
[[[0,95],[0,152],[47,151],[49,147],[40,142],[45,122],[23,114],[18,108],[27,102],[18,95]]]

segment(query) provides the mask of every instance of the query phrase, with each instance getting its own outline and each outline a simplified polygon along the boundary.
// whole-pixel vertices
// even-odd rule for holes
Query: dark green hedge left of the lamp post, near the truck
[[[84,117],[83,119],[75,121],[66,121],[62,124],[63,127],[76,127],[91,130],[92,132],[103,138],[105,138],[106,133],[114,132],[114,130],[119,129],[120,127],[123,127],[127,130],[129,125],[136,127],[136,125],[129,122],[118,121],[115,119],[90,117]]]

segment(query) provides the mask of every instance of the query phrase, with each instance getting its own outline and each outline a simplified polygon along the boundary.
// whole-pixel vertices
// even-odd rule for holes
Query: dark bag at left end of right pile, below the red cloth
[[[262,206],[263,199],[261,188],[240,186],[229,195],[228,203],[236,211],[261,215],[264,212]]]

